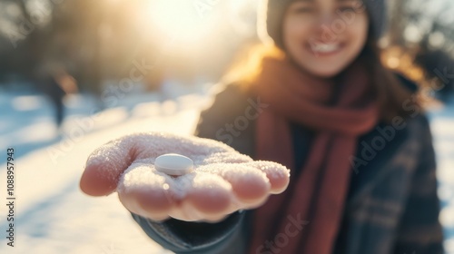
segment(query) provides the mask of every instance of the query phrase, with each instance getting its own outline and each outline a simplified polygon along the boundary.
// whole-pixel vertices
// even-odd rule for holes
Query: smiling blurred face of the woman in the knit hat
[[[285,51],[301,69],[330,78],[366,44],[369,17],[358,0],[297,0],[283,18]]]

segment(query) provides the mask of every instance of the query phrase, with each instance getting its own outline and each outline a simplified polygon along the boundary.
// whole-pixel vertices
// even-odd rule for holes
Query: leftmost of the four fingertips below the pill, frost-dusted
[[[178,203],[175,185],[171,177],[155,171],[153,166],[133,164],[121,177],[117,192],[127,210],[153,220],[164,220]]]

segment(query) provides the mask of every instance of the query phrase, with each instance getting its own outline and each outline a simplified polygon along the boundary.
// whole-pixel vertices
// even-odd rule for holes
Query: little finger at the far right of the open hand
[[[279,194],[289,186],[290,170],[281,164],[272,161],[252,161],[246,164],[266,174],[272,194]]]

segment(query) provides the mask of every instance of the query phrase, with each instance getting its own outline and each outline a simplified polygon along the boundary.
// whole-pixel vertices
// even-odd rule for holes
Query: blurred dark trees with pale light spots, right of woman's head
[[[390,1],[386,61],[410,78],[429,85],[430,95],[448,99],[454,92],[454,2]],[[419,68],[415,68],[415,64]]]

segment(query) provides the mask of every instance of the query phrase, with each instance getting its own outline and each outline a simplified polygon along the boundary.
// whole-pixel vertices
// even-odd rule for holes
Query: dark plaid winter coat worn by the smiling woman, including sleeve
[[[360,137],[357,155],[350,158],[350,190],[335,254],[443,253],[429,122],[416,105],[403,106],[410,118],[380,123]],[[261,110],[259,98],[227,86],[202,112],[197,135],[227,142],[253,158],[254,120]],[[311,136],[293,125],[295,154],[307,154]],[[304,156],[295,157],[301,166]],[[176,253],[245,253],[252,216],[253,210],[235,212],[214,224],[155,222],[135,214],[133,219],[163,248]]]

